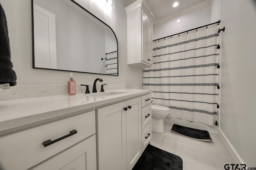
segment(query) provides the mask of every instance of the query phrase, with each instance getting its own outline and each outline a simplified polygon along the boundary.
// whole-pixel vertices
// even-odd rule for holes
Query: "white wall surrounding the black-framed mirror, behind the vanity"
[[[116,0],[116,8],[108,11],[105,0],[77,0],[87,10],[108,24],[118,39],[119,76],[74,72],[77,84],[93,83],[102,78],[105,83],[126,83],[127,88],[142,88],[142,69],[127,65],[127,18],[122,0]],[[18,85],[66,84],[69,72],[32,68],[31,0],[0,0],[8,22],[12,62]],[[130,81],[132,80],[132,81]]]

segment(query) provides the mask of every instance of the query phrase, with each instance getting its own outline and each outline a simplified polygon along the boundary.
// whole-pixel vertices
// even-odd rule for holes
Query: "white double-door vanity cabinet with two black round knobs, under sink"
[[[141,97],[97,109],[96,117],[99,170],[131,170],[142,154]]]

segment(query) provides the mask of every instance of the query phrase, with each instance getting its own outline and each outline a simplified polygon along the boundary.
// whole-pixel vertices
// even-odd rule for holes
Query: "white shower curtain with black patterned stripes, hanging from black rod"
[[[218,25],[153,42],[153,66],[143,70],[143,88],[169,117],[214,125],[219,92]]]

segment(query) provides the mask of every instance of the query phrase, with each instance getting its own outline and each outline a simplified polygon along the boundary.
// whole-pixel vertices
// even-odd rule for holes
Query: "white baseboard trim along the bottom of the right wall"
[[[231,158],[233,159],[235,164],[244,164],[241,158],[238,156],[236,150],[232,147],[226,136],[222,133],[222,131],[218,128],[218,136],[220,137],[221,141],[223,142],[224,146],[228,150]]]

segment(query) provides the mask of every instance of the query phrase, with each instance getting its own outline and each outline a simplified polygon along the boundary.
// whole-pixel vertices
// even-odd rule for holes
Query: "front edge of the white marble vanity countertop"
[[[74,115],[82,114],[84,112],[95,110],[100,107],[108,106],[116,102],[122,102],[125,100],[143,96],[145,94],[149,94],[152,91],[153,90],[145,90],[143,92],[136,92],[136,93],[128,94],[126,96],[120,96],[116,98],[93,102],[90,104],[82,104],[79,106],[67,107],[67,108],[47,111],[47,112],[39,113],[35,115],[29,115],[25,117],[4,120],[0,122],[0,136],[6,135],[8,133],[14,133],[16,131],[24,130],[26,128],[31,128],[34,126],[49,123],[52,121],[57,121],[59,119],[64,119]]]

